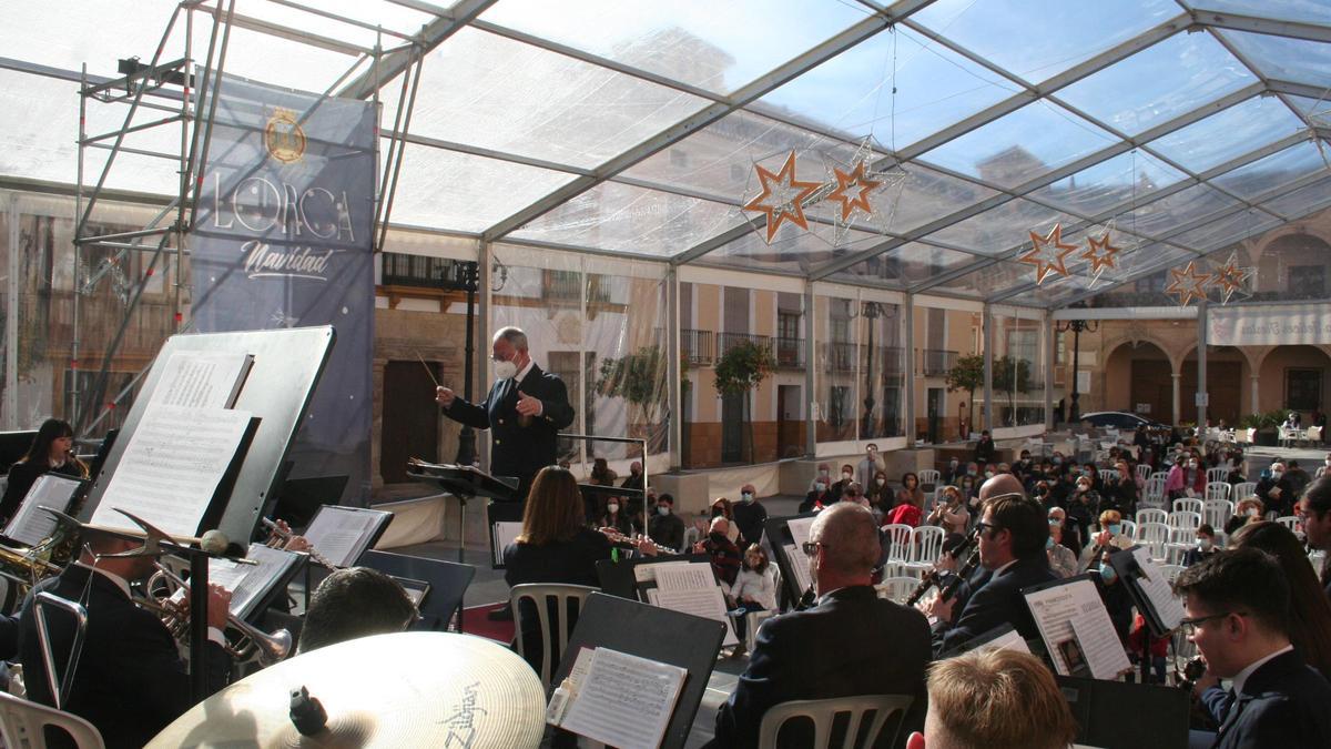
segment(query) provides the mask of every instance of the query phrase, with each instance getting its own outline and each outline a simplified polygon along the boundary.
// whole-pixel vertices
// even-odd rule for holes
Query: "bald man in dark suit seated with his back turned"
[[[716,713],[716,738],[708,746],[757,746],[763,714],[791,700],[914,694],[905,720],[914,728],[906,730],[922,725],[929,625],[920,612],[876,596],[878,550],[868,509],[837,502],[817,516],[804,545],[817,605],[763,622],[748,668]],[[888,746],[894,728],[888,721],[874,746]],[[833,734],[832,745],[840,741]],[[808,746],[812,732],[795,721],[777,744]]]

